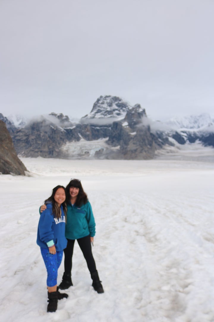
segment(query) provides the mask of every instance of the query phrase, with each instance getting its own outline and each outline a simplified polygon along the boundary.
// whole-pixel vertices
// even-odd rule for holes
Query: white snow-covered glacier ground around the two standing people
[[[214,321],[214,163],[210,155],[209,162],[206,155],[203,161],[176,155],[21,158],[32,176],[0,175],[0,321]],[[46,270],[36,244],[39,205],[70,178],[81,179],[92,204],[93,254],[105,293],[93,290],[75,243],[74,286],[47,313]]]

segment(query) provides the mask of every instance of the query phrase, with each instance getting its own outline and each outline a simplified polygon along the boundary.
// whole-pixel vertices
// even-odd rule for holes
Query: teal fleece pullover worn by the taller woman
[[[65,237],[79,239],[95,235],[95,220],[90,202],[81,206],[67,204],[67,223],[65,225]]]

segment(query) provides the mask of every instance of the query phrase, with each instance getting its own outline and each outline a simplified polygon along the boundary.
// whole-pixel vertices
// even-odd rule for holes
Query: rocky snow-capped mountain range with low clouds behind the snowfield
[[[9,129],[12,123],[6,118],[3,121]],[[18,124],[9,131],[22,156],[148,159],[175,141],[184,145],[198,140],[214,147],[214,125],[208,114],[155,122],[147,118],[140,104],[131,106],[110,95],[100,96],[79,122],[62,113],[50,113],[23,127]]]

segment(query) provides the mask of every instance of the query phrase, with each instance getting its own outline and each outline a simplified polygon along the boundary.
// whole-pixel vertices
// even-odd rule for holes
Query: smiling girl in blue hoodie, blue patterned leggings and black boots
[[[57,270],[61,264],[63,250],[67,246],[65,222],[67,206],[66,191],[61,185],[53,189],[52,195],[45,201],[47,208],[39,218],[37,244],[47,269],[47,312],[55,312],[58,299],[67,298],[57,289]]]

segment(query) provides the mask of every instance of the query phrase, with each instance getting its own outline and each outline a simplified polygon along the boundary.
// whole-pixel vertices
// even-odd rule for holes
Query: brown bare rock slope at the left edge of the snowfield
[[[10,133],[0,120],[0,173],[25,175],[25,171],[27,169],[16,154]]]

